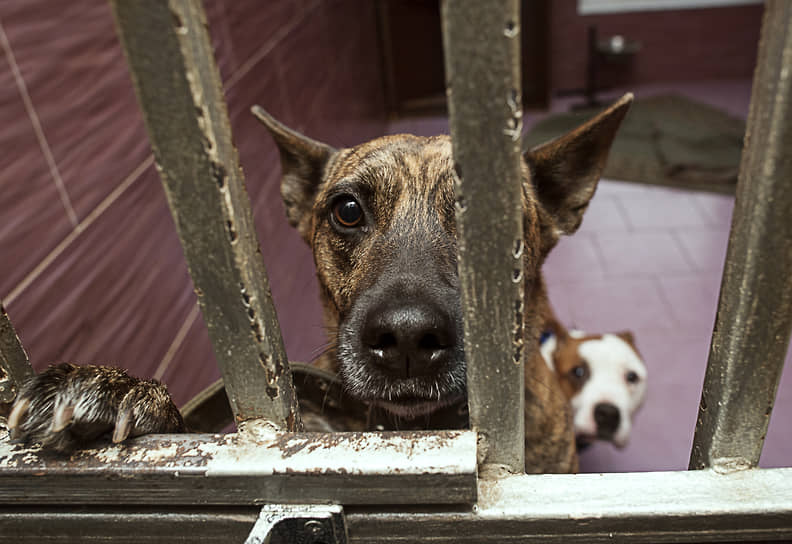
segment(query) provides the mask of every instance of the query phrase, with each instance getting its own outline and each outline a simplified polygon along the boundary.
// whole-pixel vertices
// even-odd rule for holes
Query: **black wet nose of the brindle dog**
[[[457,342],[448,313],[423,301],[370,312],[361,339],[373,362],[399,378],[436,373],[449,361]]]

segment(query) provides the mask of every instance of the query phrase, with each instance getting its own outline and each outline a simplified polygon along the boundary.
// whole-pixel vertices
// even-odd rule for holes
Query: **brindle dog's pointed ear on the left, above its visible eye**
[[[278,145],[283,171],[281,196],[289,223],[309,241],[311,209],[327,164],[336,150],[288,128],[261,106],[253,106],[251,111],[267,127]]]

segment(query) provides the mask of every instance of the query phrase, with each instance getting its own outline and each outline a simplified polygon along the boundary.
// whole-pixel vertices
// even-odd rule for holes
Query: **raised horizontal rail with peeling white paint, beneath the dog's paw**
[[[470,431],[149,435],[39,456],[0,433],[3,505],[457,504],[476,500]]]

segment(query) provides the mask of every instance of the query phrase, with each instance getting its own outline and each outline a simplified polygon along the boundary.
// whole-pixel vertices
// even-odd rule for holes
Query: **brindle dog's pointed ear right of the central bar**
[[[539,202],[554,222],[549,226],[556,239],[558,234],[572,234],[580,226],[632,99],[632,94],[624,95],[575,130],[523,155]]]

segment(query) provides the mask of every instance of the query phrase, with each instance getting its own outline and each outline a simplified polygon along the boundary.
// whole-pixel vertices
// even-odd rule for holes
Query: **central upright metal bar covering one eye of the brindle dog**
[[[443,3],[470,422],[480,462],[525,469],[518,0]]]

